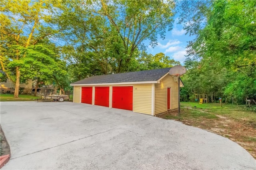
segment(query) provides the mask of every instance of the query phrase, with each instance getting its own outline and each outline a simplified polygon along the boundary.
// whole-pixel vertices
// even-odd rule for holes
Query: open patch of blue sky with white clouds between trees
[[[190,37],[189,34],[185,35],[186,31],[177,22],[178,18],[175,19],[173,29],[170,32],[166,32],[164,40],[158,38],[158,45],[156,47],[152,48],[145,42],[148,53],[155,55],[162,52],[171,59],[180,61],[180,63],[184,62],[186,46],[188,45],[188,41],[193,40],[193,37]]]

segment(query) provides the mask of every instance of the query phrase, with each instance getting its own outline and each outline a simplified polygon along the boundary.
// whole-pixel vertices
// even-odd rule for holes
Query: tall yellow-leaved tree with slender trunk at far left
[[[26,57],[26,53],[20,53],[19,49],[36,45],[56,33],[51,25],[54,8],[51,1],[10,0],[1,1],[0,9],[1,68],[15,83],[14,97],[18,97],[23,64],[21,59]]]

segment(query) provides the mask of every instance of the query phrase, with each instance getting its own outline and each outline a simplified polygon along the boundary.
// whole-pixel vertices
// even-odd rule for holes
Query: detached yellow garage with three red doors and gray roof
[[[178,108],[178,80],[170,68],[92,76],[74,86],[73,102],[156,115]],[[180,80],[180,86],[183,86]]]

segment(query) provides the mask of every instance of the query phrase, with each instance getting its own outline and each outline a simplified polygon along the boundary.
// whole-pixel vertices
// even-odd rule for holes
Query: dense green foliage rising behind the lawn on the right
[[[189,18],[181,17],[181,21],[190,34],[196,34],[196,39],[189,44],[188,57],[198,61],[200,69],[193,67],[194,70],[203,71],[197,75],[201,79],[197,84],[207,89],[206,80],[210,77],[211,81],[214,80],[212,89],[219,93],[235,95],[240,102],[246,96],[253,96],[256,81],[256,2],[218,0],[191,3],[196,4],[190,6],[194,14]],[[226,81],[216,74],[225,77]],[[192,75],[193,71],[189,73],[194,77]],[[197,77],[190,81],[196,82]]]

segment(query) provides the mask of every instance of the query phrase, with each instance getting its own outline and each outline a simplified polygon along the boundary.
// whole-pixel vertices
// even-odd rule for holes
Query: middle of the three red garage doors
[[[95,87],[95,105],[109,106],[109,87]]]

